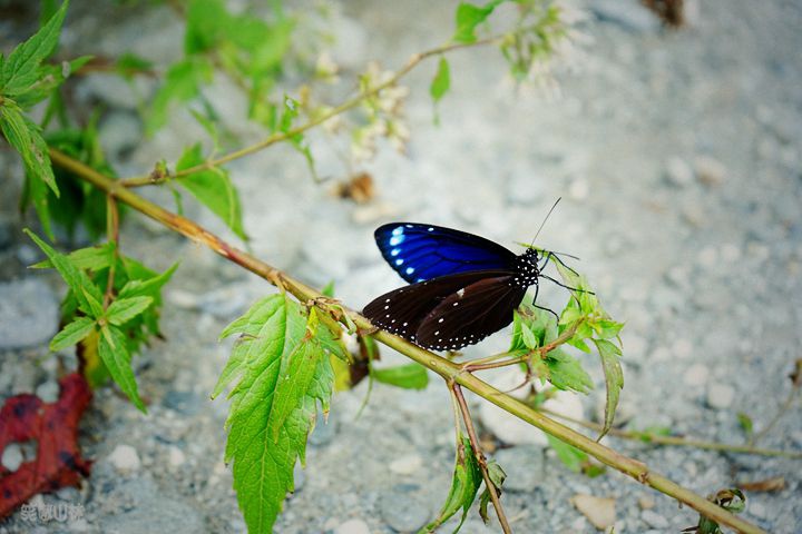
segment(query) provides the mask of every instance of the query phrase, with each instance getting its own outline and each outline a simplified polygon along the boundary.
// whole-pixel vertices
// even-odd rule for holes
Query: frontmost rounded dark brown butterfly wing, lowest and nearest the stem
[[[415,343],[434,350],[456,350],[485,339],[512,322],[526,295],[515,274],[483,277],[452,293],[420,323]]]

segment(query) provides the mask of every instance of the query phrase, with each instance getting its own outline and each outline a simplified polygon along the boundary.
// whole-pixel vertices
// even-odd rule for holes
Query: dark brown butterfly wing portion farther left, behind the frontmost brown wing
[[[417,342],[415,334],[423,319],[450,296],[482,279],[509,278],[510,276],[512,275],[507,270],[482,270],[459,273],[411,284],[374,299],[364,307],[362,315],[369,318],[374,326]],[[511,310],[509,316],[511,319]]]

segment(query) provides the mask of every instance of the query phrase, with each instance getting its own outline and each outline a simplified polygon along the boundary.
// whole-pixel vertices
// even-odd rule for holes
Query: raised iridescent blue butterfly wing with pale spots
[[[376,228],[374,237],[384,259],[410,284],[459,273],[509,270],[516,257],[483,237],[434,225],[391,222]]]

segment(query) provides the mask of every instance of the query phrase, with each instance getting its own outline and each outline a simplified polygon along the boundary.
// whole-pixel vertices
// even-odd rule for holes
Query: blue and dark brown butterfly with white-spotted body
[[[560,261],[555,253],[530,247],[516,255],[483,237],[414,222],[383,225],[374,237],[410,285],[374,299],[362,314],[424,348],[457,350],[479,343],[512,322],[529,286],[537,299],[539,278],[563,286],[542,274],[549,259]]]

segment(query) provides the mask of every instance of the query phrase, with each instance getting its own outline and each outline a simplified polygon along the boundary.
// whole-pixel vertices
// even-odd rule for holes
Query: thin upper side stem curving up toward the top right
[[[514,31],[514,33],[527,31],[530,28],[521,28]],[[380,83],[375,87],[372,87],[371,89],[360,92],[355,97],[351,98],[350,100],[346,100],[345,102],[341,103],[340,106],[332,108],[325,113],[322,113],[314,119],[309,120],[307,122],[304,122],[301,126],[297,126],[286,132],[278,132],[278,134],[272,134],[267,136],[265,139],[251,145],[248,147],[242,148],[239,150],[234,150],[232,152],[226,154],[225,156],[221,156],[216,159],[209,159],[207,161],[204,161],[203,164],[196,165],[194,167],[188,167],[183,170],[178,170],[175,172],[170,172],[165,176],[154,175],[153,172],[149,175],[143,175],[143,176],[135,176],[131,178],[125,178],[120,180],[120,182],[125,187],[140,187],[140,186],[150,186],[155,184],[160,184],[163,181],[166,181],[172,178],[182,178],[185,176],[189,176],[195,172],[199,172],[202,170],[208,170],[215,167],[219,167],[222,165],[228,164],[231,161],[234,161],[235,159],[243,158],[245,156],[248,156],[251,154],[257,152],[260,150],[263,150],[271,145],[275,145],[276,142],[284,141],[286,139],[293,138],[297,136],[299,134],[303,134],[304,131],[314,128],[315,126],[322,125],[326,120],[336,117],[338,115],[341,115],[352,108],[355,108],[359,106],[363,100],[371,98],[379,92],[381,92],[383,89],[387,89],[389,87],[394,86],[401,78],[407,76],[412,69],[414,69],[421,61],[423,61],[427,58],[431,58],[433,56],[439,56],[441,53],[450,52],[453,50],[458,50],[461,48],[469,48],[469,47],[479,47],[483,44],[490,44],[493,42],[501,41],[505,37],[507,37],[506,33],[488,37],[486,39],[479,39],[475,42],[454,42],[450,44],[443,44],[441,47],[432,48],[430,50],[427,50],[424,52],[419,52],[410,57],[410,59],[407,61],[407,63],[395,71],[395,73],[384,81],[383,83]]]

